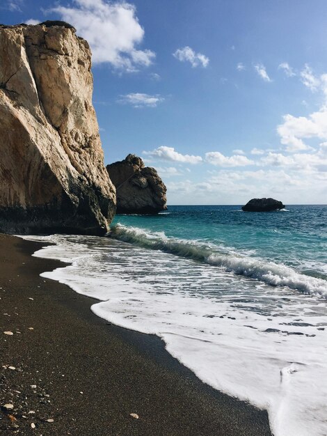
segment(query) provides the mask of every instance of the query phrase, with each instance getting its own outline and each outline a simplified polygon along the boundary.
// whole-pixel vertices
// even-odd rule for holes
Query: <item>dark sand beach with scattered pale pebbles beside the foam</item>
[[[200,382],[159,338],[42,279],[61,263],[31,257],[39,247],[0,235],[0,402],[14,406],[1,436],[271,435],[265,411]]]

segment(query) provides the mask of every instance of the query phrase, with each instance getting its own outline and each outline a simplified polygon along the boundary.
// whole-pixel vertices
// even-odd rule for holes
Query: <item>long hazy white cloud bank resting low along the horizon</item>
[[[312,153],[283,155],[264,150],[255,160],[260,169],[214,169],[199,182],[168,182],[170,204],[245,204],[249,198],[272,196],[285,204],[322,203],[327,192],[327,141]],[[242,156],[240,156],[242,157]],[[209,176],[208,176],[209,174]],[[205,197],[204,197],[205,195]]]

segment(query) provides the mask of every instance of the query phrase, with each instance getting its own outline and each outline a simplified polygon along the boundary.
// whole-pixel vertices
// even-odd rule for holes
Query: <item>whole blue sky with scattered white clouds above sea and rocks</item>
[[[1,0],[93,52],[105,163],[134,153],[168,205],[327,203],[326,0]]]

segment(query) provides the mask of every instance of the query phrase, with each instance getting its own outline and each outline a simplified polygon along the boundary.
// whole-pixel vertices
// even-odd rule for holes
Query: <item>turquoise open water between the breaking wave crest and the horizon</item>
[[[119,232],[120,225],[157,233],[157,244],[153,234],[152,238],[133,238],[131,233]],[[326,205],[291,205],[266,213],[242,212],[241,206],[170,206],[168,212],[157,216],[118,215],[112,228],[113,235],[119,233],[118,238],[180,256],[196,258],[200,247],[207,246],[217,256],[240,254],[327,279]],[[161,241],[160,232],[164,234]],[[185,251],[181,245],[165,247],[167,240],[193,243],[199,253],[196,247],[189,247],[187,253],[187,244]]]

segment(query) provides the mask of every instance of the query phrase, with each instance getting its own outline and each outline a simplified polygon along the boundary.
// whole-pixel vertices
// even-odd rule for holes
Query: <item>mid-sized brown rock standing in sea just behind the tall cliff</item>
[[[156,214],[167,209],[166,186],[141,157],[128,155],[106,169],[117,192],[118,213]]]

